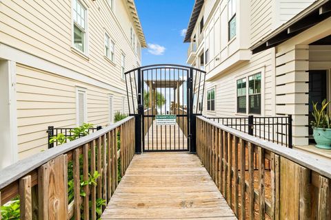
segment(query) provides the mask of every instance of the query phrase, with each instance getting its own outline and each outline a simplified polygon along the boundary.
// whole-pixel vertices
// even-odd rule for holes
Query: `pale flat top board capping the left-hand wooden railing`
[[[79,139],[73,140],[72,142],[68,142],[66,144],[61,144],[61,146],[59,147],[50,148],[47,151],[37,153],[36,155],[32,155],[31,157],[27,157],[26,159],[22,159],[19,162],[16,162],[10,166],[7,166],[6,168],[3,168],[2,170],[0,170],[0,189],[8,186],[13,181],[16,181],[24,175],[27,175],[39,166],[46,164],[46,162],[50,161],[51,159],[54,159],[55,157],[63,153],[68,153],[74,148],[82,146],[83,144],[87,144],[92,140],[97,139],[97,137],[105,135],[109,131],[116,129],[118,126],[121,126],[121,124],[128,122],[132,118],[134,117],[129,116],[128,118],[111,124],[110,126],[106,126],[99,131],[95,131],[90,135],[80,137]]]

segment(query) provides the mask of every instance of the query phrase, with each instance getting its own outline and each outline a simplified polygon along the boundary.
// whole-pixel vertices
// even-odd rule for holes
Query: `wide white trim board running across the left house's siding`
[[[14,61],[16,63],[21,63],[23,65],[33,67],[36,69],[41,69],[43,71],[50,72],[58,76],[71,78],[81,83],[94,85],[97,87],[101,87],[103,89],[108,89],[110,91],[118,92],[120,94],[126,94],[126,89],[122,89],[120,87],[114,87],[113,85],[110,85],[108,83],[103,83],[101,80],[97,80],[95,78],[91,78],[90,76],[80,74],[79,72],[76,72],[72,69],[68,69],[66,67],[57,65],[56,63],[52,63],[50,61],[46,61],[43,58],[34,56],[32,54],[28,54],[26,52],[18,50],[17,48],[10,47],[3,43],[0,43],[0,58],[3,58],[8,61]]]

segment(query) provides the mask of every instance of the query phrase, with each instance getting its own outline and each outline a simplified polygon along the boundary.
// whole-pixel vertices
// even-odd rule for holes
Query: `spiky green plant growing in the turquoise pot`
[[[322,129],[331,129],[331,112],[328,111],[328,106],[331,101],[327,102],[323,100],[321,103],[321,108],[317,107],[317,103],[312,103],[312,115],[314,116],[314,121],[310,122],[310,124],[317,128]]]

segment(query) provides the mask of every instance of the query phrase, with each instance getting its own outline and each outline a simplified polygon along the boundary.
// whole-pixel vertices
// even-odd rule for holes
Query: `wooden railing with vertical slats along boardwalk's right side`
[[[328,162],[202,116],[197,155],[239,219],[331,219]]]

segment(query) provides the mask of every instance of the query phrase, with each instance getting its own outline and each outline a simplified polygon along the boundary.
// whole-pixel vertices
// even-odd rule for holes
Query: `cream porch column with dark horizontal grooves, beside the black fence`
[[[276,115],[292,115],[294,145],[308,145],[309,46],[279,47],[276,54]],[[279,136],[280,137],[280,136]]]

